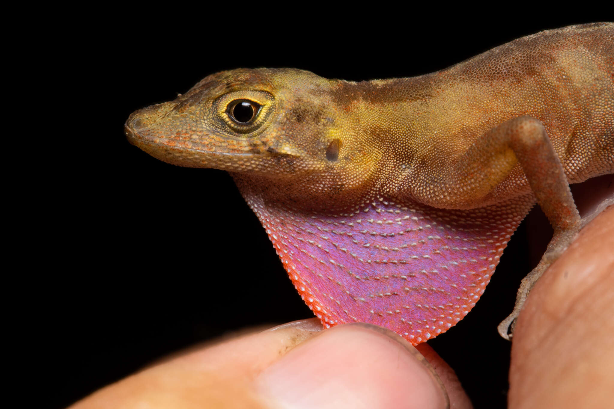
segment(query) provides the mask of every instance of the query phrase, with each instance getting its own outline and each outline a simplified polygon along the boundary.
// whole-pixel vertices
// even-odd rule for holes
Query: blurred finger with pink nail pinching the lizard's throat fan
[[[438,357],[431,351],[430,359]],[[446,381],[454,378],[449,367],[438,367]],[[456,399],[456,392],[451,396]],[[437,373],[394,332],[370,324],[321,332],[313,319],[173,357],[101,389],[74,408],[143,405],[422,409],[448,403]]]

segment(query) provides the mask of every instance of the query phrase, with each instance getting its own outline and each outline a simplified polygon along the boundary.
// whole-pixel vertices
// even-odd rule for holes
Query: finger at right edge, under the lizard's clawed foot
[[[546,270],[516,325],[510,408],[607,407],[614,389],[614,207]]]

